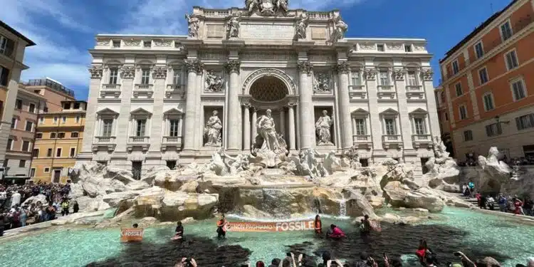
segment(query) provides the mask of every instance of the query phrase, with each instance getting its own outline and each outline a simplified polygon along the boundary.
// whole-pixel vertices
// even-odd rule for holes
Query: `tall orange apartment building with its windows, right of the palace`
[[[442,133],[460,161],[534,157],[534,1],[515,0],[441,59]]]

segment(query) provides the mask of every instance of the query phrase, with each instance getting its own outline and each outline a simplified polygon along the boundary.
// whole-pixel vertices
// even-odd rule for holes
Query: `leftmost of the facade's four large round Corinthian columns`
[[[187,95],[185,102],[184,150],[194,149],[194,122],[197,117],[197,114],[195,114],[197,112],[197,107],[195,107],[195,103],[197,102],[195,98],[195,85],[197,84],[197,70],[199,65],[200,62],[197,60],[185,61],[185,66],[187,68]]]

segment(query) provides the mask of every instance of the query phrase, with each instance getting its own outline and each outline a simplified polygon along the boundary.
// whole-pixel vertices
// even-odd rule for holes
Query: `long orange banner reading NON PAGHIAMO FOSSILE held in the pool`
[[[234,232],[279,232],[279,231],[305,231],[313,230],[313,221],[231,221],[226,227]]]

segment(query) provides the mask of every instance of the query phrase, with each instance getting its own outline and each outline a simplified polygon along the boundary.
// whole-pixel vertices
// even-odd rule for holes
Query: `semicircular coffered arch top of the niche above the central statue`
[[[262,88],[263,92],[260,92]],[[248,75],[243,83],[243,93],[251,95],[252,98],[259,101],[276,101],[280,100],[278,98],[282,94],[284,94],[284,97],[286,95],[296,95],[297,90],[293,79],[282,70],[261,68]],[[261,98],[272,98],[273,100],[263,100]]]

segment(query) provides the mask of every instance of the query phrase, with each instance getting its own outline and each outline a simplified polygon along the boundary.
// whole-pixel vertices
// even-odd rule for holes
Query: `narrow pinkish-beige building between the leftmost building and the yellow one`
[[[46,99],[19,85],[6,145],[4,179],[28,179],[38,114]],[[22,182],[22,181],[19,181]]]

